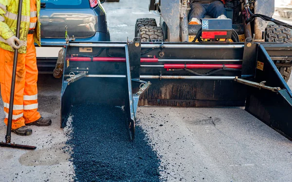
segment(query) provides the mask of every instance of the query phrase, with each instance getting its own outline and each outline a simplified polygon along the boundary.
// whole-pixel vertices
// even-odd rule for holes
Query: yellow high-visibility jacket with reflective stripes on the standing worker
[[[37,26],[34,33],[34,41],[40,46],[40,0],[37,1]],[[17,14],[19,0],[0,0],[0,37],[8,39],[16,34]],[[27,41],[30,24],[30,0],[22,0],[21,22],[19,39]],[[0,41],[0,48],[14,51],[8,44]],[[26,53],[26,46],[18,49],[19,53]]]

